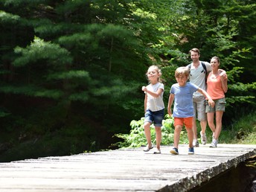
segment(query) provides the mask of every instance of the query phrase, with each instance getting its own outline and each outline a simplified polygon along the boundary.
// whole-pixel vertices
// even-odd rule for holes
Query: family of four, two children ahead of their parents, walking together
[[[191,64],[176,68],[176,82],[170,88],[167,112],[174,118],[174,143],[170,153],[179,154],[179,138],[182,127],[188,132],[188,154],[194,153],[194,147],[199,147],[197,141],[196,119],[200,122],[201,143],[207,143],[205,129],[208,123],[212,131],[210,147],[217,147],[222,128],[222,117],[225,111],[225,92],[228,90],[228,78],[225,71],[220,69],[220,59],[211,58],[211,64],[199,60],[199,49],[190,51]],[[153,149],[150,135],[150,125],[156,129],[156,150],[161,153],[161,121],[164,119],[164,84],[161,83],[161,70],[152,65],[147,70],[149,85],[143,86],[144,98],[144,134],[147,146],[144,151]],[[206,84],[207,83],[207,84]],[[173,105],[173,110],[171,109]],[[215,124],[214,124],[215,117]]]

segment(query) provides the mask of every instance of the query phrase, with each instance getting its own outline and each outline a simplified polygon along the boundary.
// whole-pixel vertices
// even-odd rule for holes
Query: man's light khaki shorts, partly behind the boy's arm
[[[199,121],[207,121],[205,113],[205,96],[193,95],[193,115]]]

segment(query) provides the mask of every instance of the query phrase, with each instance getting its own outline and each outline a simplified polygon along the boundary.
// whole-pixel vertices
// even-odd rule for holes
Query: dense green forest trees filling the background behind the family
[[[0,161],[111,149],[144,116],[148,66],[218,56],[223,127],[255,112],[252,0],[0,0]]]

